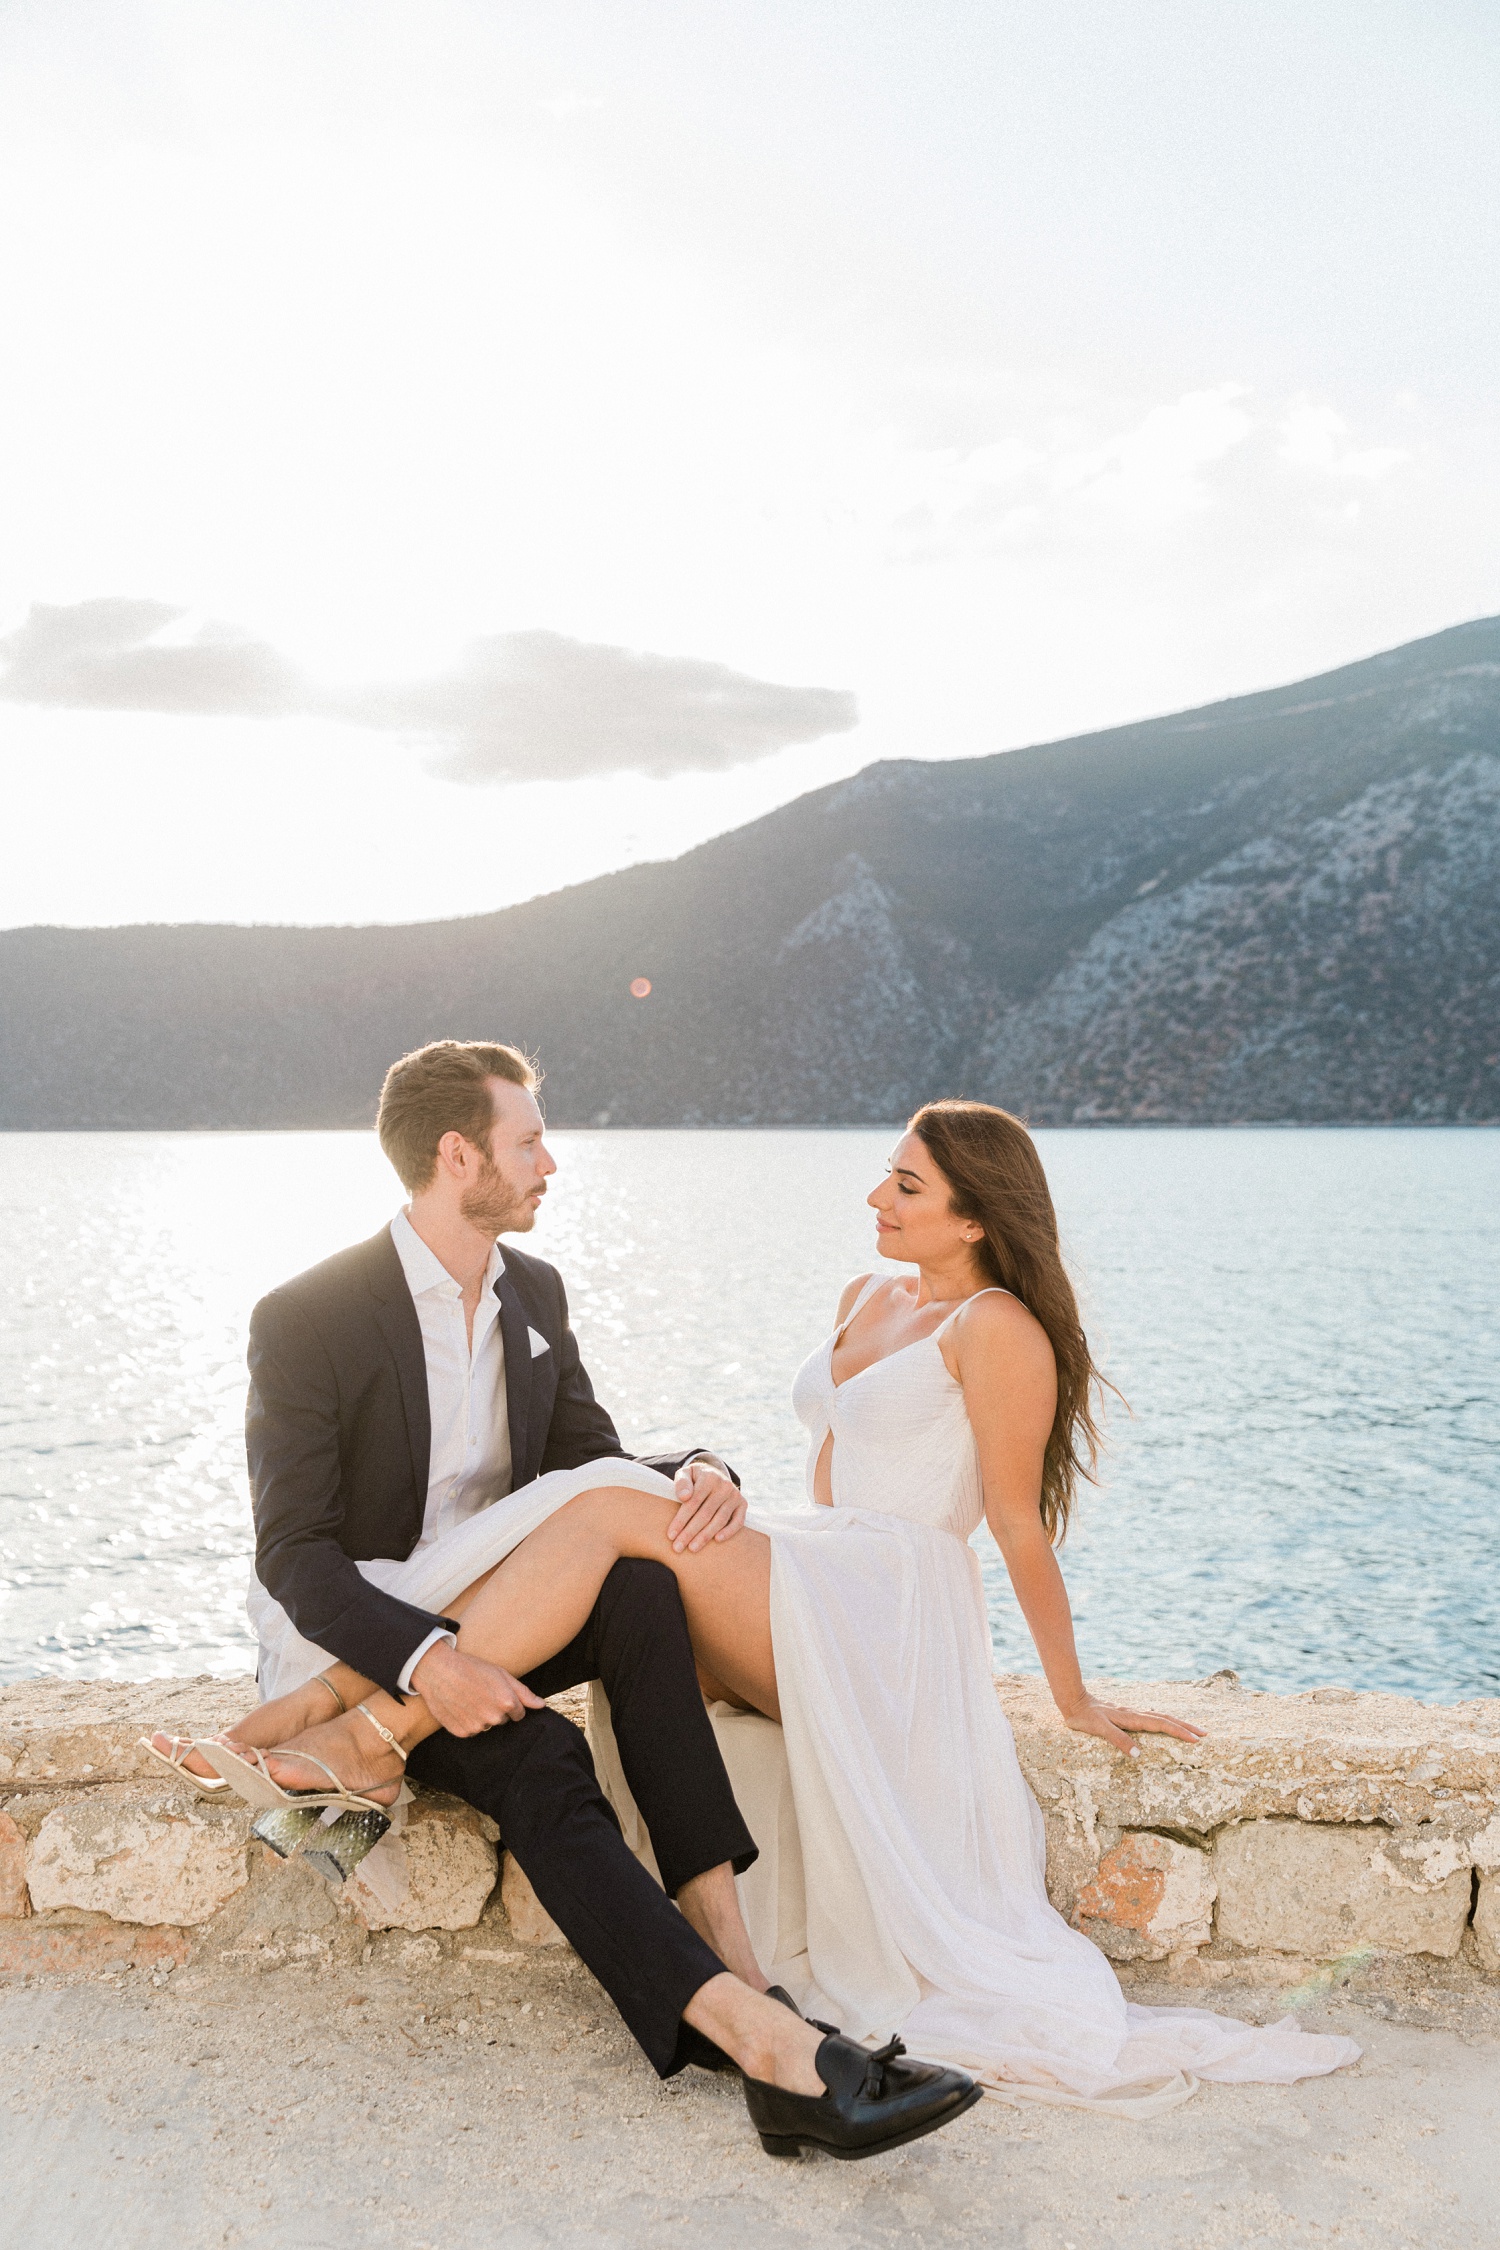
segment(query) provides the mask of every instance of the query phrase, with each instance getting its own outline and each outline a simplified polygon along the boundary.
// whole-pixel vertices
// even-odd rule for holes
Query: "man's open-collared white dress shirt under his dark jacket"
[[[391,1242],[416,1305],[427,1361],[427,1413],[432,1454],[427,1498],[416,1548],[432,1546],[454,1523],[477,1516],[510,1490],[510,1415],[506,1411],[506,1346],[499,1334],[495,1282],[504,1271],[499,1242],[490,1251],[479,1285],[475,1332],[463,1325],[463,1289],[436,1258],[405,1210],[391,1220]],[[452,1640],[432,1631],[403,1665],[398,1688],[409,1692],[412,1672],[434,1645]]]

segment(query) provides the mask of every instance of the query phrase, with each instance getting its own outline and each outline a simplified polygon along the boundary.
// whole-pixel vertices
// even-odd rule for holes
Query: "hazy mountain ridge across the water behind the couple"
[[[439,1035],[540,1051],[555,1123],[1496,1120],[1498,875],[1475,619],[486,916],[0,934],[0,1125],[367,1123]]]

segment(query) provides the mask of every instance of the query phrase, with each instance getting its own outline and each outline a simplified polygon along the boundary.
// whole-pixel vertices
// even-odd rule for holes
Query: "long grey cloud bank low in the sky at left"
[[[36,603],[0,637],[0,695],[74,711],[333,718],[421,745],[448,781],[722,772],[843,734],[843,688],[751,680],[702,657],[497,632],[430,680],[324,686],[236,626],[162,601]]]

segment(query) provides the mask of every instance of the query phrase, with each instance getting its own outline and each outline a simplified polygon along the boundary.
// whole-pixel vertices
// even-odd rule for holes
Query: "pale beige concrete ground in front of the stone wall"
[[[2,1989],[0,2243],[1500,2250],[1493,2000],[1338,1996],[1307,2020],[1361,2066],[1147,2124],[985,2102],[888,2158],[787,2164],[738,2081],[659,2086],[571,1955],[486,1951]]]

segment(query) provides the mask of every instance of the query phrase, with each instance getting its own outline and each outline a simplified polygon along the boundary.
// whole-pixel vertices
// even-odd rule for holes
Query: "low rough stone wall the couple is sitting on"
[[[1120,1757],[1070,1735],[1041,1683],[996,1683],[1052,1901],[1115,1962],[1192,1982],[1401,1955],[1500,1978],[1500,1701],[1271,1696],[1232,1674],[1097,1688],[1208,1728]],[[333,1892],[277,1861],[238,1804],[200,1800],[137,1748],[155,1726],[211,1732],[250,1699],[250,1681],[211,1678],[0,1690],[0,1973],[562,1942],[495,1822],[454,1798],[418,1796],[409,1894],[387,1915],[358,1876]],[[558,1703],[580,1717],[578,1696]]]

